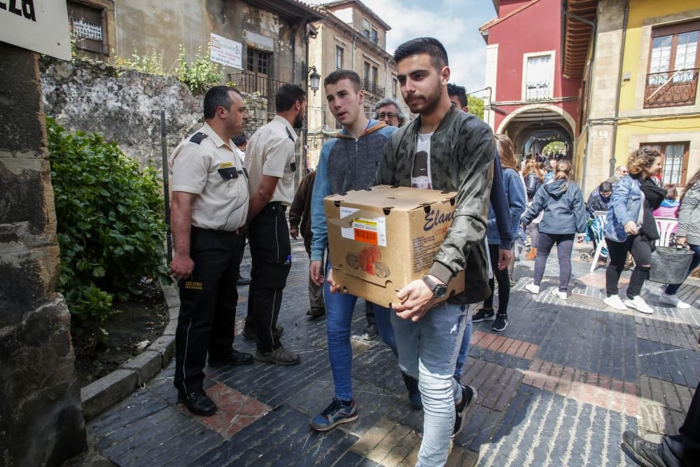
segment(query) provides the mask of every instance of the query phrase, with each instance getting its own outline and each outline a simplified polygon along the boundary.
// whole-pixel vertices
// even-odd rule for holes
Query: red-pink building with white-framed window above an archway
[[[563,141],[572,153],[581,80],[561,73],[561,0],[493,0],[497,18],[479,28],[486,41],[484,118],[507,134],[519,156]]]

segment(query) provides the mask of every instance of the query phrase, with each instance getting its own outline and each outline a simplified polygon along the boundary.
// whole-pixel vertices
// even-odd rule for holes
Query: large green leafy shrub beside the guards
[[[141,293],[144,277],[167,278],[160,179],[102,134],[67,132],[52,118],[46,130],[61,249],[57,288],[74,330],[99,336],[113,295],[127,300]]]

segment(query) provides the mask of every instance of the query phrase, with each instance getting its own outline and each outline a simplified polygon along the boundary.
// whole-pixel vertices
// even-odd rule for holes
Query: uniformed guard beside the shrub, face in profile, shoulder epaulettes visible
[[[248,175],[231,138],[248,119],[241,93],[215,86],[204,96],[204,126],[175,148],[168,160],[172,179],[171,222],[179,279],[174,384],[190,412],[212,415],[204,363],[243,365],[251,354],[232,348],[243,227],[248,215]]]

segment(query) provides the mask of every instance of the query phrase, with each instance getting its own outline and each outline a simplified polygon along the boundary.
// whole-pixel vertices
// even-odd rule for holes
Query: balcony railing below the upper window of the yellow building
[[[695,104],[700,68],[647,74],[644,108],[690,106]]]

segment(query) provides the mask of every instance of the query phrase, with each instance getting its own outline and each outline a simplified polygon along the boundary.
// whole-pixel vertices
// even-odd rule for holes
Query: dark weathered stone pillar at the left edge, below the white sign
[[[0,466],[83,450],[37,55],[0,43]]]

